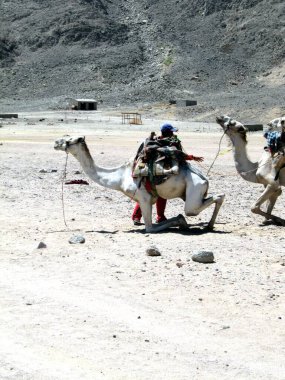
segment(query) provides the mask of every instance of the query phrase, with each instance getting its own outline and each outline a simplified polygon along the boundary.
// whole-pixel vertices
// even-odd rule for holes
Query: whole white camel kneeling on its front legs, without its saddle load
[[[152,224],[152,205],[156,202],[157,196],[165,199],[182,198],[185,201],[185,214],[187,216],[196,216],[214,204],[215,208],[208,228],[214,227],[224,200],[224,194],[207,198],[208,180],[189,163],[179,168],[178,174],[170,176],[164,183],[157,185],[156,196],[146,190],[140,178],[133,178],[133,160],[113,169],[95,165],[85,137],[64,136],[55,141],[54,149],[71,153],[80,162],[87,176],[99,185],[121,191],[129,198],[139,202],[146,232],[159,232],[173,226],[187,228],[183,215],[178,215],[159,224]]]

